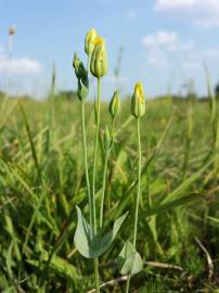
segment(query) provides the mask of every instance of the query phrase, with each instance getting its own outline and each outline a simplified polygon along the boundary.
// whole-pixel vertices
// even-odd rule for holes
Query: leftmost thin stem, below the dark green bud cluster
[[[92,230],[92,200],[90,192],[90,180],[88,173],[88,154],[87,154],[87,139],[86,139],[86,122],[85,122],[85,101],[81,101],[81,124],[82,124],[82,146],[83,146],[83,162],[85,162],[85,171],[86,171],[86,183],[88,191],[88,202],[89,202],[89,217],[90,217],[90,227]]]

